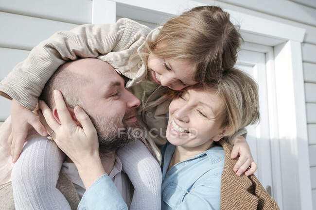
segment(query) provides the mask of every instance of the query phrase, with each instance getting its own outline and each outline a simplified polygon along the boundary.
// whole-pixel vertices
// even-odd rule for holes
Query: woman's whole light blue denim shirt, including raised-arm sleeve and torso
[[[161,210],[219,210],[224,150],[213,146],[167,171],[175,146],[162,148]],[[107,174],[95,180],[83,195],[78,210],[128,210]]]

